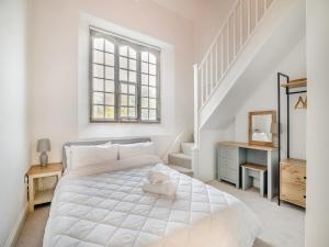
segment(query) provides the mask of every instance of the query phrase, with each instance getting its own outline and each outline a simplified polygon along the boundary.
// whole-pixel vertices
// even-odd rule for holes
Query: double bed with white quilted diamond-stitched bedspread
[[[252,247],[261,224],[245,203],[159,161],[141,155],[66,172],[43,247]],[[156,164],[177,184],[174,198],[141,190]]]

